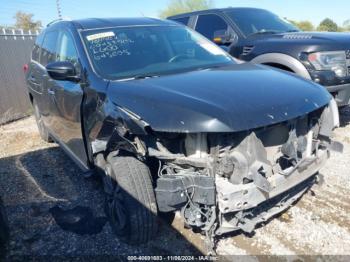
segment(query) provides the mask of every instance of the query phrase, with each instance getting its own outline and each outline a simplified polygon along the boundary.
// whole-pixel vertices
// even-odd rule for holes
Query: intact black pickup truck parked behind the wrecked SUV
[[[256,8],[224,8],[169,17],[222,46],[232,56],[294,72],[325,86],[339,106],[350,100],[350,34],[301,32]]]

